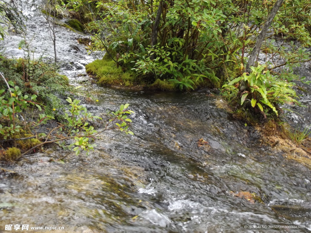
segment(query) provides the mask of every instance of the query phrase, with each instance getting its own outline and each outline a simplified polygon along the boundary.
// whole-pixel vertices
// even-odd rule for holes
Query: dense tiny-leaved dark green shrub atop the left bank
[[[44,111],[47,115],[58,116],[58,111],[52,109],[62,108],[58,96],[66,95],[71,91],[71,87],[68,86],[68,78],[57,73],[55,65],[20,58],[2,59],[0,66],[0,71],[5,77],[10,77],[14,83],[12,86],[18,86],[21,94],[36,95],[38,103],[46,106]],[[0,79],[0,88],[6,88],[2,79]]]

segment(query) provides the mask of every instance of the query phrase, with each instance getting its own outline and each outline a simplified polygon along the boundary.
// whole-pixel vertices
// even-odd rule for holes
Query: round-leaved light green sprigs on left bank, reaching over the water
[[[8,84],[13,85],[13,82],[9,81]],[[41,111],[40,105],[34,102],[37,96],[23,96],[18,86],[8,89],[8,93],[10,93],[11,97],[7,98],[7,95],[4,93],[5,90],[1,89],[0,94],[3,95],[1,95],[0,98],[0,139],[4,139],[3,142],[13,141],[19,148],[9,148],[0,160],[15,160],[26,153],[29,153],[31,150],[51,142],[58,143],[59,146],[64,149],[75,151],[76,155],[79,155],[81,151],[86,151],[86,155],[88,155],[90,150],[94,150],[95,144],[91,144],[91,142],[96,139],[95,136],[98,132],[93,126],[89,125],[89,122],[94,121],[95,119],[102,119],[87,112],[86,107],[79,105],[80,100],[75,99],[72,101],[71,98],[67,99],[70,108],[65,111],[64,122],[58,123],[58,126],[52,129],[48,135],[40,133],[40,138],[45,138],[45,141],[40,143],[38,139],[31,137],[35,132],[35,128],[39,125],[46,124],[47,121],[54,118],[45,114],[39,114],[36,124],[34,124],[34,122],[27,124],[25,119],[24,122],[22,122],[18,120],[18,118],[16,119],[16,116],[18,113],[23,114],[30,105],[38,107]],[[117,128],[121,132],[133,135],[133,132],[128,130],[129,125],[127,122],[132,122],[132,120],[128,118],[127,114],[133,113],[131,110],[126,110],[128,106],[129,104],[121,105],[119,110],[111,112],[111,119],[109,122],[119,122],[115,123],[116,127],[107,127],[109,126],[108,122],[104,130]],[[16,139],[20,139],[20,133],[25,132],[25,130],[28,132],[28,134],[25,135],[30,136],[25,138],[26,140],[29,140],[29,142],[16,142]],[[68,145],[68,139],[74,140]],[[21,154],[20,149],[28,150]]]

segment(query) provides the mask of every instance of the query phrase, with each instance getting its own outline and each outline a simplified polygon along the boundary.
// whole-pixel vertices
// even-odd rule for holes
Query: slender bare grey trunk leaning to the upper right
[[[260,48],[261,48],[261,45],[262,45],[262,41],[266,37],[266,33],[267,33],[271,23],[272,23],[272,20],[274,19],[277,11],[280,9],[280,7],[283,4],[283,2],[284,2],[284,0],[277,0],[275,5],[272,8],[272,11],[268,15],[267,21],[266,21],[265,25],[263,25],[263,28],[262,28],[262,30],[261,30],[261,32],[260,32],[260,34],[259,34],[259,36],[258,36],[258,38],[256,40],[256,43],[254,45],[253,51],[252,51],[251,55],[248,58],[248,62],[247,62],[246,67],[245,67],[245,72],[246,73],[250,73],[251,72],[250,67],[253,66],[253,64],[255,62],[255,59],[256,59],[256,56],[257,56],[257,54],[260,51]],[[243,93],[243,91],[245,91],[246,89],[247,89],[247,85],[246,85],[245,81],[242,80],[241,83],[240,83],[239,93]]]

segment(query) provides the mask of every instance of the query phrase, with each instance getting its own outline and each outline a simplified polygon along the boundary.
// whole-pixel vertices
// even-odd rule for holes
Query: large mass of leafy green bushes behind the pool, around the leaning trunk
[[[274,4],[231,0],[91,3],[97,9],[92,14],[97,20],[88,26],[93,49],[107,50],[123,67],[143,76],[147,84],[171,80],[180,89],[195,88],[197,79],[201,85],[219,86],[224,77],[230,82],[242,76],[245,54],[252,50]],[[67,1],[76,11],[87,4],[84,0]],[[272,22],[262,51],[271,53],[267,65],[274,75],[285,76],[309,60],[309,52],[301,48],[311,45],[310,7],[306,0],[286,1]],[[278,43],[277,38],[285,43]]]

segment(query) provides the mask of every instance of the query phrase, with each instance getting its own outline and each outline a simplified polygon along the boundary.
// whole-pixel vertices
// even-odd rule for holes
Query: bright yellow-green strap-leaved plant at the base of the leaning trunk
[[[296,93],[291,88],[293,83],[278,80],[271,75],[265,65],[252,66],[251,70],[250,74],[244,73],[242,76],[230,81],[229,84],[223,85],[223,88],[237,93],[238,85],[236,84],[241,80],[247,81],[249,91],[246,90],[241,93],[241,106],[244,103],[248,104],[266,117],[266,114],[270,113],[271,110],[278,115],[277,105],[284,103],[299,104],[296,100]]]

